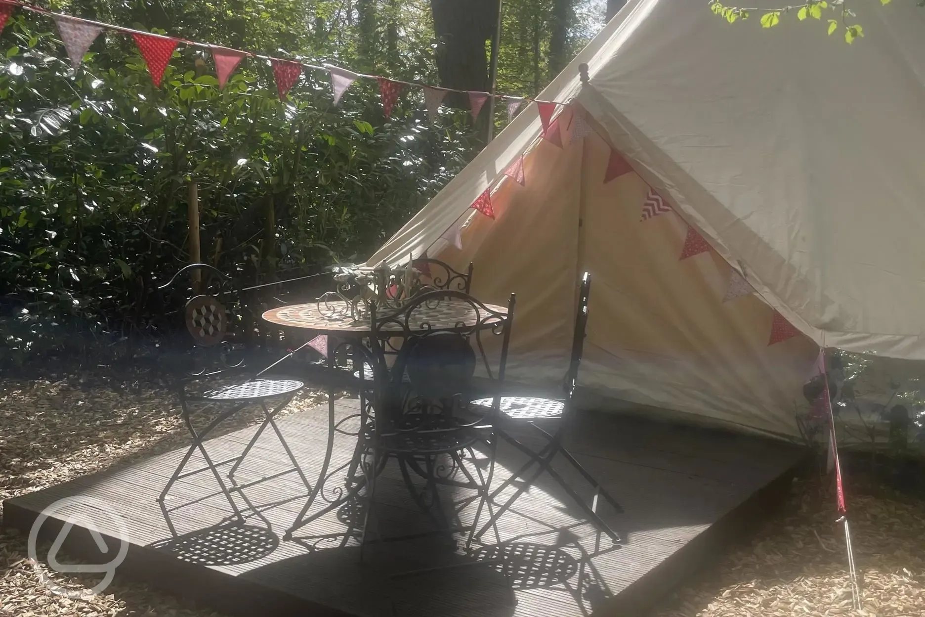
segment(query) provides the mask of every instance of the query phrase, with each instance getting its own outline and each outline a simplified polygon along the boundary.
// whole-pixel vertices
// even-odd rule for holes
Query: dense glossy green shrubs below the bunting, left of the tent
[[[264,63],[219,91],[184,47],[157,89],[124,37],[74,71],[52,28],[18,14],[0,54],[0,364],[138,334],[189,259],[192,179],[203,260],[253,279],[371,252],[474,152],[465,112],[431,128],[409,97],[384,121],[375,82],[334,108],[312,74],[284,105]]]

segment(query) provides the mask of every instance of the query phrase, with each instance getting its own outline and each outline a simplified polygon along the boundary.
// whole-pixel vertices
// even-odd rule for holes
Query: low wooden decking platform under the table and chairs
[[[337,415],[356,413],[356,405],[352,400],[339,401]],[[314,483],[327,439],[327,406],[284,417],[279,425]],[[216,460],[228,458],[240,452],[253,430],[210,439],[207,447]],[[338,436],[332,467],[348,460],[351,439]],[[115,546],[122,524],[130,545],[119,574],[199,598],[228,614],[638,615],[653,600],[664,598],[726,540],[758,524],[788,489],[791,472],[802,456],[800,450],[771,440],[598,413],[582,415],[569,446],[623,505],[623,514],[607,507],[600,510],[625,540],[612,547],[610,540],[582,520],[561,489],[542,477],[502,517],[498,536],[487,534],[483,538],[487,546],[476,553],[505,555],[507,576],[492,563],[401,575],[474,561],[451,553],[435,537],[368,546],[361,562],[355,539],[348,538],[340,547],[353,515],[349,507],[330,512],[284,541],[281,537],[306,493],[293,474],[247,490],[260,515],[252,512],[243,526],[228,523],[230,509],[221,495],[202,500],[216,490],[211,475],[181,480],[166,500],[167,508],[177,508],[169,512],[176,529],[172,533],[155,497],[182,451],[7,500],[4,524],[28,532],[38,514],[56,500],[73,496],[103,500],[117,512],[118,520],[87,505],[69,504],[42,525],[43,537],[54,538],[61,524],[73,523],[65,547],[89,561],[105,562],[111,553],[100,557],[87,530],[94,528],[109,546]],[[511,448],[502,448],[499,480],[522,461]],[[194,457],[193,464],[199,463]],[[278,442],[267,431],[238,477],[247,481],[286,466]],[[557,469],[586,492],[569,467]],[[447,491],[445,498],[466,496],[463,489],[455,489]],[[376,528],[383,535],[430,528],[393,466],[381,476],[376,502]],[[462,522],[470,521],[474,511],[474,506],[464,509]]]

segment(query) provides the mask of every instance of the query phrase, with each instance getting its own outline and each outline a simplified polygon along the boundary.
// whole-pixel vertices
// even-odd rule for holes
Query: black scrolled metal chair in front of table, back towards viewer
[[[507,309],[501,310],[457,290],[428,291],[400,310],[385,313],[372,304],[369,348],[364,354],[373,372],[376,417],[363,465],[368,487],[364,516],[372,509],[376,475],[388,460],[396,460],[414,500],[442,533],[452,530],[438,486],[474,489],[479,498],[477,523],[494,472],[494,456],[493,452],[489,456],[487,475],[477,465],[470,470],[463,459],[475,460],[476,441],[495,443],[491,432],[497,406],[488,406],[475,421],[463,419],[460,412],[471,396],[476,367],[481,366],[492,381],[503,380],[513,309],[513,294]],[[500,345],[491,346],[492,355],[497,352],[494,366],[484,344],[489,336],[501,339]],[[385,341],[394,338],[403,343],[389,365]],[[449,458],[449,466],[438,463],[439,458]],[[423,489],[415,487],[412,473],[425,480]],[[364,537],[367,524],[364,519]],[[472,524],[456,530],[468,531],[471,537],[475,528]]]

